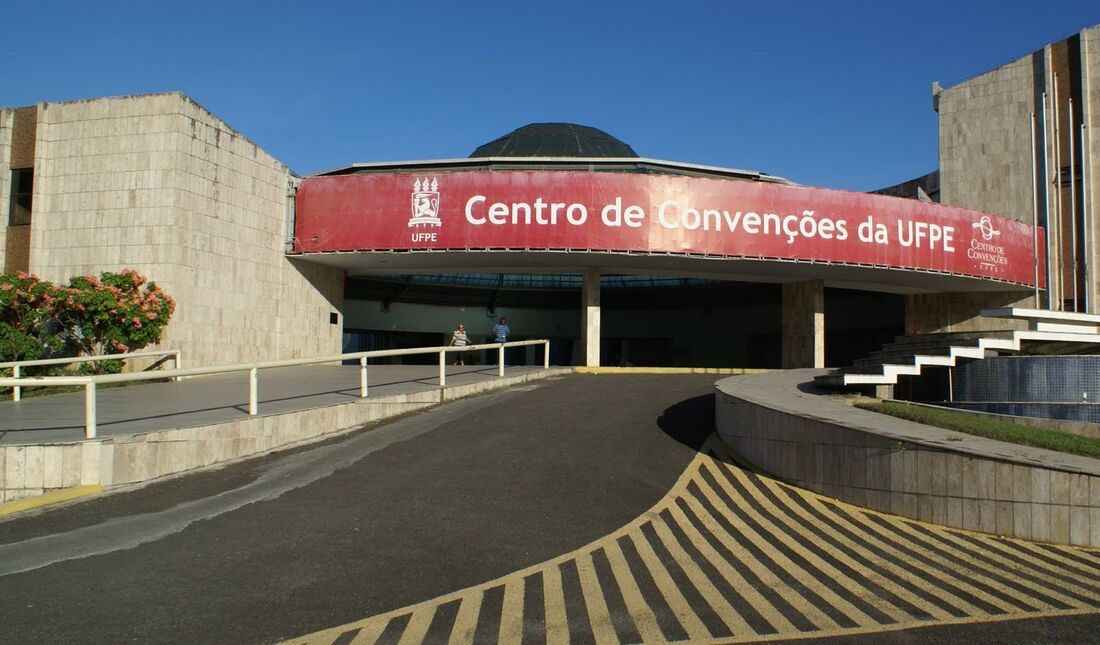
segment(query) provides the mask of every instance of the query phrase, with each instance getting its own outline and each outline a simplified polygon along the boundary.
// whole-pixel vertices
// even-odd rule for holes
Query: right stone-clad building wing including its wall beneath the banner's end
[[[1049,287],[1020,292],[1016,304],[1097,311],[1100,25],[953,87],[934,84],[933,106],[941,201],[1037,222],[1047,233],[1047,262],[1036,271]],[[908,326],[963,330],[976,325],[968,317],[976,308],[1004,300],[917,296],[908,309],[920,320]]]

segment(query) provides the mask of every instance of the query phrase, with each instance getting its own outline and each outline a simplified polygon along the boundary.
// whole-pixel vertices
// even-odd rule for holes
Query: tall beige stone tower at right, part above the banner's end
[[[1065,208],[1071,201],[1069,178],[1056,178],[1057,168],[1085,168],[1076,176],[1080,195],[1088,201],[1081,211],[1093,212],[1100,190],[1100,168],[1081,162],[1100,158],[1100,25],[1081,30],[1074,36],[1045,45],[1015,61],[939,91],[934,102],[939,113],[939,199],[943,204],[992,212],[1022,222],[1040,219],[1053,240],[1048,255],[1055,266],[1049,289],[1053,302],[1074,299],[1072,263],[1062,259],[1071,253],[1070,222]],[[1079,45],[1079,54],[1077,50]],[[1080,149],[1081,132],[1068,123],[1068,97],[1075,95],[1075,110],[1085,131],[1086,154],[1078,150],[1076,163],[1069,160],[1071,136]],[[1078,96],[1079,95],[1079,96]],[[1055,97],[1057,101],[1055,105]],[[1034,121],[1033,121],[1034,119]],[[1032,124],[1038,160],[1033,158]],[[1047,173],[1047,177],[1036,177]],[[1066,172],[1066,171],[1063,171]],[[1052,187],[1063,186],[1058,195]],[[1034,194],[1037,186],[1038,190]],[[1060,201],[1059,201],[1060,200]],[[1057,207],[1057,208],[1056,208]],[[1055,212],[1062,211],[1060,219]],[[1082,226],[1078,212],[1076,222]],[[1057,223],[1060,222],[1060,226]],[[1085,264],[1100,261],[1097,244],[1100,223],[1077,229],[1074,237],[1085,239],[1080,251]],[[1060,238],[1060,241],[1059,241]],[[1060,251],[1060,252],[1059,252]],[[1100,297],[1100,281],[1079,287],[1089,302]]]

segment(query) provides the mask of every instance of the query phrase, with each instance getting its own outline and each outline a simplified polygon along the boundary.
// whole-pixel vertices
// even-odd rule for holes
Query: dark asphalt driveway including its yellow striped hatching
[[[712,393],[548,379],[0,522],[0,643],[1096,639],[1100,551],[745,469]]]

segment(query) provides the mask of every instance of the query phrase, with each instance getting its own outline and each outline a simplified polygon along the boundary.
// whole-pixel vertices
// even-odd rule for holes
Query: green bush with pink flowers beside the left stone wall
[[[0,360],[32,360],[66,349],[85,356],[136,351],[161,340],[175,302],[131,269],[82,275],[57,286],[34,275],[0,275]],[[84,363],[103,373],[122,361]]]

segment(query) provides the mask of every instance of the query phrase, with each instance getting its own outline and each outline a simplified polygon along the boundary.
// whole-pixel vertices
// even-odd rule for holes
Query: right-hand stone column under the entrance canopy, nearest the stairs
[[[825,282],[783,285],[784,370],[825,367]]]

